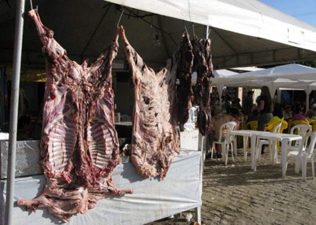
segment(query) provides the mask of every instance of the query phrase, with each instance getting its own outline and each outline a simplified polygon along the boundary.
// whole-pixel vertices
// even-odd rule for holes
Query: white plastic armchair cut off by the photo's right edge
[[[300,143],[300,147],[298,151],[290,151],[287,154],[288,158],[295,159],[295,173],[299,173],[300,165],[302,164],[302,179],[306,180],[306,168],[307,168],[307,160],[311,160],[311,172],[312,177],[315,179],[314,172],[314,147],[316,143],[316,131],[307,133],[302,142]],[[287,162],[286,162],[287,163]]]

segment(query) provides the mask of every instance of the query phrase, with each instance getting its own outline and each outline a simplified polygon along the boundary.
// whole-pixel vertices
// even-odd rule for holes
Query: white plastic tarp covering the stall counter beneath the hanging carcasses
[[[123,189],[133,188],[133,194],[108,196],[97,202],[94,209],[72,216],[63,224],[144,224],[202,205],[201,152],[181,151],[174,158],[164,180],[145,179],[132,163],[123,163],[113,171],[114,184]],[[42,193],[43,175],[15,179],[14,199],[34,199]],[[0,180],[0,224],[4,224],[6,180]],[[59,224],[60,220],[46,209],[28,213],[15,206],[13,224]]]

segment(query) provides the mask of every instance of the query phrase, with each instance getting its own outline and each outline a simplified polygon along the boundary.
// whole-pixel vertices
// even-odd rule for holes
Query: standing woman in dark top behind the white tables
[[[260,111],[258,119],[258,130],[264,131],[266,125],[272,118],[271,113],[273,112],[273,101],[270,95],[269,88],[267,86],[262,86],[259,105],[254,109]]]

